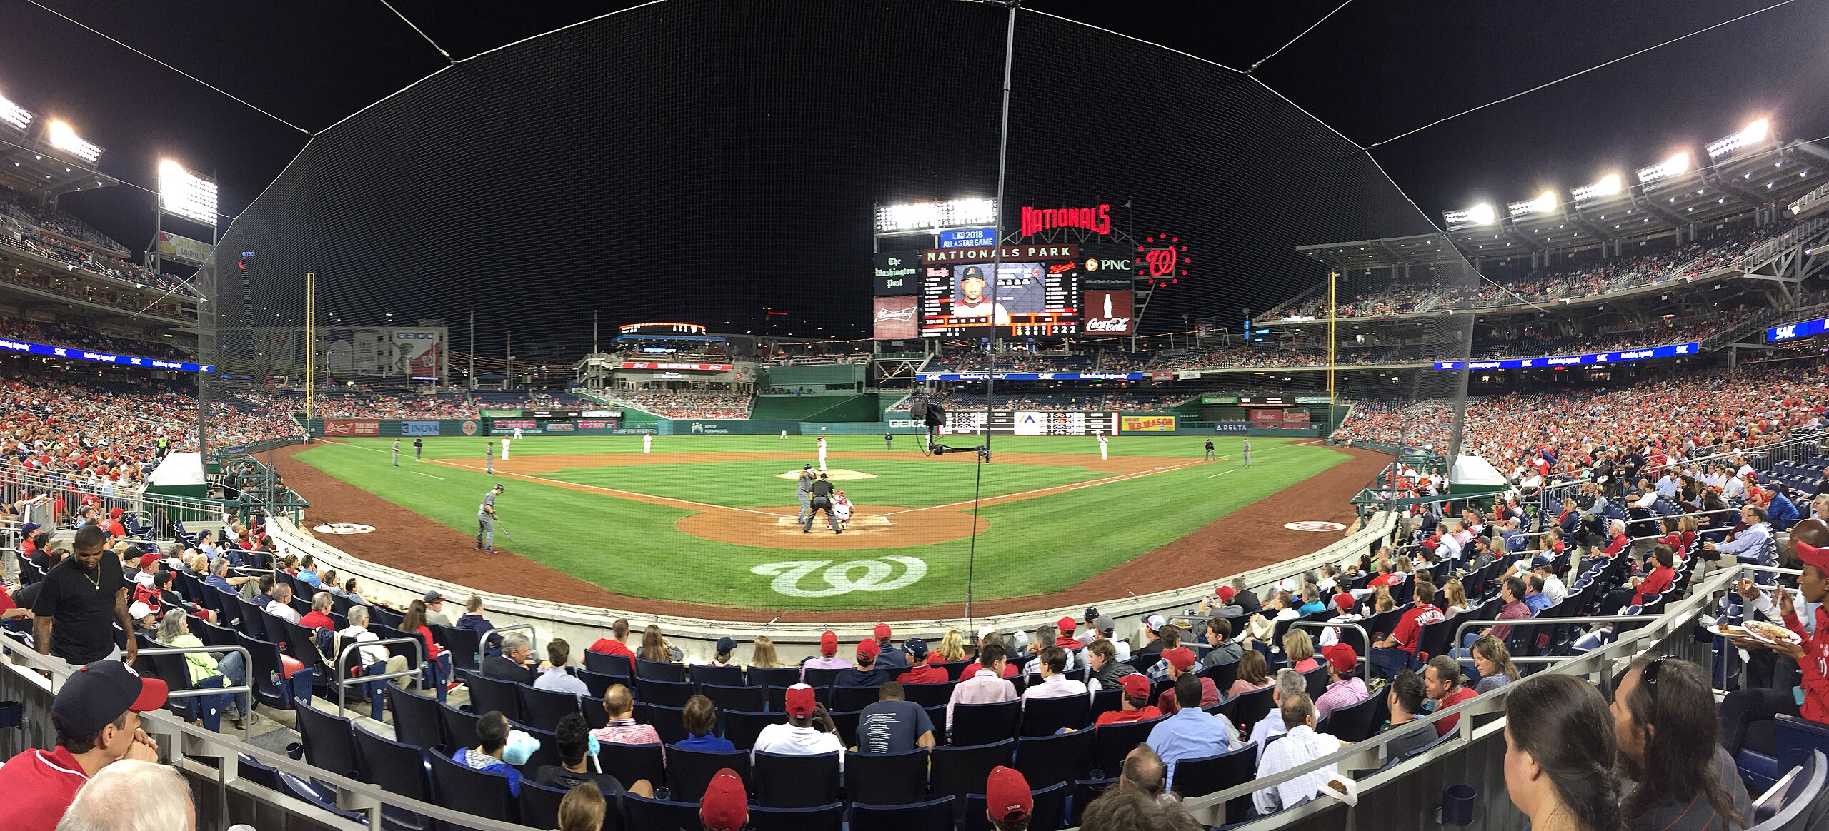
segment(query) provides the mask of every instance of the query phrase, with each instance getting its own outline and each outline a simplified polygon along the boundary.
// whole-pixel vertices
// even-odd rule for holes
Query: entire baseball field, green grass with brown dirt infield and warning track
[[[975,601],[1033,606],[1072,588],[1121,597],[1310,552],[1339,531],[1284,524],[1350,522],[1341,495],[1381,464],[1278,438],[1251,440],[1251,468],[1233,437],[1214,440],[1216,460],[1202,458],[1200,437],[1118,437],[1107,460],[1090,437],[997,437],[984,466],[916,442],[829,438],[829,475],[856,506],[843,535],[823,517],[812,533],[796,522],[794,477],[818,468],[814,437],[655,437],[651,453],[640,437],[529,437],[507,460],[496,440],[492,475],[481,437],[426,438],[417,462],[402,438],[397,468],[391,438],[335,438],[296,447],[282,471],[313,502],[307,526],[373,526],[331,544],[477,588],[519,594],[521,575],[554,570],[679,608],[913,614],[964,603],[968,570]],[[1344,462],[1357,464],[1332,473]],[[494,484],[505,493],[488,555],[472,537]],[[565,586],[525,592],[607,605]]]

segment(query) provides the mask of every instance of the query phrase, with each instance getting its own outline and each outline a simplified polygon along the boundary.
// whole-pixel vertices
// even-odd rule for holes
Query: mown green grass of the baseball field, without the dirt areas
[[[933,506],[969,500],[980,484],[986,497],[1105,479],[1063,460],[1037,464],[949,464],[922,458],[916,437],[898,437],[905,460],[832,458],[830,468],[876,473],[878,479],[840,482],[854,502],[865,506]],[[391,438],[338,440],[298,453],[307,462],[388,502],[421,513],[463,533],[476,533],[476,506],[499,479],[450,466],[412,464],[412,440],[402,440],[401,468],[388,458]],[[426,458],[481,462],[481,437],[426,438]],[[1165,469],[1149,477],[1101,484],[1037,499],[982,508],[989,530],[977,537],[979,599],[1022,597],[1072,586],[1123,561],[1172,542],[1240,506],[1313,477],[1348,457],[1299,440],[1255,438],[1249,475],[1242,468],[1238,438],[1216,438],[1224,462]],[[1198,460],[1200,437],[1119,437],[1110,451],[1134,457]],[[499,451],[499,442],[496,444]],[[830,437],[834,455],[883,449],[882,437]],[[529,437],[514,442],[512,455],[640,453],[638,437]],[[733,508],[794,504],[794,482],[774,473],[812,462],[812,438],[790,437],[657,437],[657,453],[690,453],[679,464],[571,468],[543,477],[688,499]],[[719,460],[724,453],[792,453],[781,460]],[[999,437],[1004,455],[1096,455],[1097,444],[1079,437]],[[675,457],[677,458],[677,457]],[[975,482],[982,473],[982,482]],[[307,495],[309,499],[309,495]],[[611,592],[691,603],[717,603],[770,610],[898,608],[958,603],[964,599],[969,539],[902,548],[808,552],[739,546],[688,535],[675,524],[690,510],[635,502],[560,486],[514,480],[497,508],[514,531],[510,548],[529,559],[572,573]],[[382,524],[386,517],[337,517],[346,522]],[[1300,517],[1295,517],[1300,519]],[[757,521],[766,521],[757,517]],[[497,531],[497,542],[501,542]],[[852,592],[830,597],[790,597],[772,588],[774,577],[752,573],[765,563],[843,563],[885,555],[916,557],[925,575],[905,588]],[[823,568],[823,566],[821,566]],[[852,575],[861,575],[856,566]],[[812,572],[801,584],[823,588]],[[902,566],[896,566],[896,575]],[[1114,592],[1121,586],[1114,584]]]

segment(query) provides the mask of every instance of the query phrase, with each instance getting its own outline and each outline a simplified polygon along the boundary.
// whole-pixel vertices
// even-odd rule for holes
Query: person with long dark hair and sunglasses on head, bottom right
[[[1641,656],[1613,694],[1619,760],[1637,785],[1620,809],[1633,827],[1672,827],[1708,816],[1706,831],[1745,829],[1747,785],[1721,747],[1708,674],[1688,661]]]

